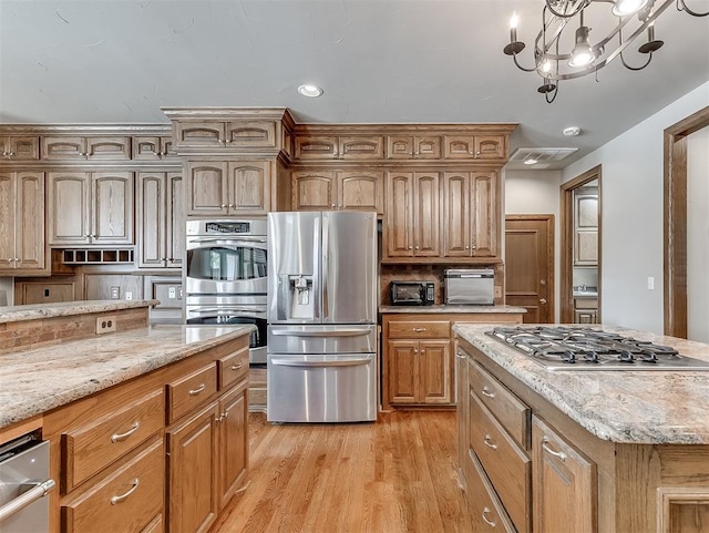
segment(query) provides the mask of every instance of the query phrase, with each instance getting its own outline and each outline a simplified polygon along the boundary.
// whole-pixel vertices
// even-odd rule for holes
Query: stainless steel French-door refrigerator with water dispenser
[[[267,418],[377,419],[377,214],[268,215]]]

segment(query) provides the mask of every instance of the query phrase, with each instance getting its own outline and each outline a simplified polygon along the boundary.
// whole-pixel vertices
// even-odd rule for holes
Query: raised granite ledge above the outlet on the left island
[[[0,324],[150,307],[160,300],[81,300],[0,307]]]

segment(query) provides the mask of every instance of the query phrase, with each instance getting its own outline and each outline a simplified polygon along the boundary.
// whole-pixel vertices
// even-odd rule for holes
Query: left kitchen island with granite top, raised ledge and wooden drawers
[[[206,531],[245,486],[253,326],[148,327],[150,305],[0,320],[31,339],[0,352],[0,442],[49,441],[52,533]]]

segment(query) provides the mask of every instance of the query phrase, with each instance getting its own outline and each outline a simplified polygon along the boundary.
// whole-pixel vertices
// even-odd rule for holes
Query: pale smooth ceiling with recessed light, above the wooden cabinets
[[[665,47],[647,69],[616,60],[597,80],[562,82],[547,104],[541,79],[502,53],[516,12],[522,62],[532,62],[542,6],[0,0],[0,123],[157,123],[167,106],[289,107],[298,122],[317,123],[513,122],[511,153],[578,148],[547,166],[561,168],[709,81],[709,17],[671,6],[656,21]],[[325,94],[305,99],[302,83]],[[565,137],[572,125],[582,134]]]

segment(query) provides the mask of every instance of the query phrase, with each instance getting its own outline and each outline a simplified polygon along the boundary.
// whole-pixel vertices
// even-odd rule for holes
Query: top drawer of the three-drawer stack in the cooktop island
[[[490,409],[510,437],[523,449],[530,449],[530,408],[517,399],[483,367],[469,359],[470,388]]]

